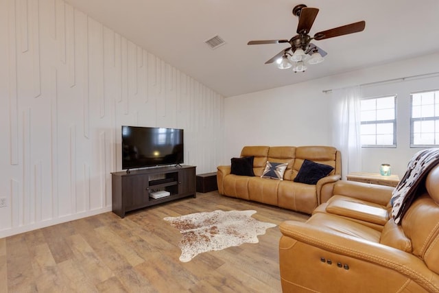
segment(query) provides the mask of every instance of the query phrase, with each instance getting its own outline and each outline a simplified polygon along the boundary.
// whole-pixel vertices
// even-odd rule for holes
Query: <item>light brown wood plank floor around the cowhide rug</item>
[[[0,239],[0,292],[281,292],[278,227],[258,244],[178,260],[180,232],[163,218],[216,209],[254,209],[274,224],[308,218],[216,191],[123,219],[103,213]]]

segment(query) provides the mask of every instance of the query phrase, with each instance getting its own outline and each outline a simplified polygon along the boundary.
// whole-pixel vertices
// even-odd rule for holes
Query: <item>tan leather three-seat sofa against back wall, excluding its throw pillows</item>
[[[254,156],[255,176],[230,174],[230,165],[218,166],[219,194],[309,214],[332,196],[333,184],[340,180],[342,172],[340,151],[329,146],[245,146],[241,151],[244,156]],[[305,159],[334,169],[316,185],[294,182]],[[283,180],[261,178],[267,161],[288,164]]]

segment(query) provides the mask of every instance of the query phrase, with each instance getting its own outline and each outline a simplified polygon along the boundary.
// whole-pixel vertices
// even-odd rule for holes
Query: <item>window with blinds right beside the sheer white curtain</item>
[[[396,95],[361,99],[361,146],[396,148]]]

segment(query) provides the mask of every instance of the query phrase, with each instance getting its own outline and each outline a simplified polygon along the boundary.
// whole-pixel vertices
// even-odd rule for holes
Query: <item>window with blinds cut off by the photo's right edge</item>
[[[410,147],[439,145],[439,90],[410,95]]]

